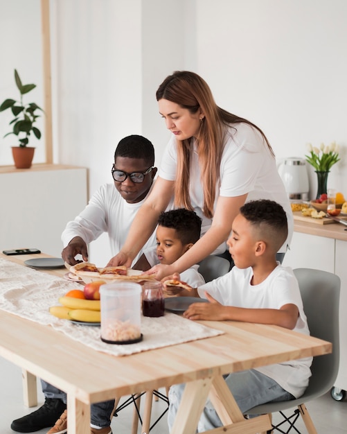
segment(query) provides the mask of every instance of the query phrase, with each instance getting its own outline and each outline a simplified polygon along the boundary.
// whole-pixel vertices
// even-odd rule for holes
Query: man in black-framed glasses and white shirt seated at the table
[[[67,223],[62,233],[64,261],[75,265],[80,262],[75,259],[78,254],[82,255],[83,261],[88,261],[87,245],[103,232],[109,236],[112,255],[118,253],[136,212],[152,187],[156,173],[152,143],[139,135],[122,139],[114,153],[114,183],[101,186],[87,207],[75,220]],[[143,250],[155,249],[156,243],[154,231],[134,263]],[[41,383],[44,405],[30,415],[14,420],[11,428],[19,433],[32,433],[54,425],[47,434],[66,433],[66,394],[43,380]],[[112,434],[110,418],[113,409],[114,400],[91,405],[91,434]]]

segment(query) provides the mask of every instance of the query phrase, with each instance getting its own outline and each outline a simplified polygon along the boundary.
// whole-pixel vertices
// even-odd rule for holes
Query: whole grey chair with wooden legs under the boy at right
[[[256,406],[247,411],[248,415],[263,415],[279,412],[284,417],[277,425],[272,425],[280,433],[289,433],[301,417],[309,434],[317,434],[312,419],[305,407],[305,402],[321,397],[332,388],[339,370],[339,293],[341,282],[337,275],[330,272],[297,268],[294,274],[299,281],[303,309],[308,318],[310,333],[316,338],[332,342],[332,354],[314,357],[312,376],[305,393],[299,399],[292,401],[278,401]],[[297,408],[295,408],[297,407]],[[283,410],[295,408],[294,413],[287,417]],[[329,415],[327,414],[327,417]],[[288,431],[282,431],[285,422],[290,424]],[[333,431],[333,430],[332,430]],[[267,431],[271,433],[272,431]]]

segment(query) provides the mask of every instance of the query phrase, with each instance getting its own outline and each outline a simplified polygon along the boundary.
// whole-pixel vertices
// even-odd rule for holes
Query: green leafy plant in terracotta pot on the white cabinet
[[[41,138],[40,130],[34,126],[37,118],[37,110],[42,110],[36,103],[23,103],[23,95],[35,89],[36,85],[23,85],[17,69],[15,69],[15,82],[19,90],[19,101],[8,98],[0,105],[0,112],[11,109],[14,119],[10,121],[12,131],[4,137],[15,134],[18,137],[19,145],[12,146],[12,155],[16,168],[30,168],[33,161],[35,148],[29,147],[30,134],[33,133],[37,139]]]

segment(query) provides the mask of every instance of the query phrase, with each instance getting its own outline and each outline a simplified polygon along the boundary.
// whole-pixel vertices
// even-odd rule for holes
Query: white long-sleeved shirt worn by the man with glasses
[[[129,232],[132,220],[145,199],[137,203],[128,203],[116,190],[114,184],[104,184],[94,193],[89,200],[89,204],[75,218],[67,223],[62,233],[64,247],[69,244],[74,236],[80,236],[89,244],[96,240],[98,236],[107,232],[109,245],[112,255],[117,254]],[[147,243],[143,246],[133,264],[139,259],[143,250],[151,248],[157,244],[155,232],[150,236]]]

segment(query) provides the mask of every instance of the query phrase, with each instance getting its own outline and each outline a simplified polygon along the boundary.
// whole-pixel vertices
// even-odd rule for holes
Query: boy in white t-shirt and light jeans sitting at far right
[[[309,334],[298,282],[290,268],[276,262],[276,252],[287,238],[285,211],[271,200],[254,200],[240,208],[233,221],[229,252],[235,267],[226,275],[196,288],[195,297],[209,303],[190,304],[190,320],[233,320],[276,324]],[[172,278],[179,279],[179,275]],[[167,278],[166,278],[167,279]],[[164,288],[165,289],[165,288]],[[194,291],[166,288],[166,293],[191,297]],[[308,386],[312,358],[278,363],[226,376],[242,413],[261,403],[300,397]],[[170,388],[168,424],[175,420],[184,384]],[[198,431],[222,426],[208,400]]]

